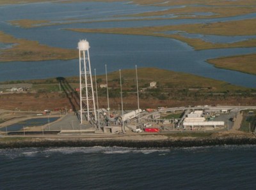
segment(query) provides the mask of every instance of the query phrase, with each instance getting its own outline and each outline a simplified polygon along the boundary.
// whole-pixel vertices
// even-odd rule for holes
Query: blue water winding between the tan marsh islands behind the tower
[[[118,69],[155,67],[191,73],[216,80],[223,80],[230,84],[245,87],[256,87],[256,76],[237,71],[214,68],[206,62],[207,59],[251,54],[256,48],[223,48],[214,50],[194,50],[192,47],[178,40],[152,36],[129,36],[118,34],[76,33],[67,31],[68,28],[102,28],[102,27],[142,27],[173,24],[193,24],[221,22],[228,20],[242,20],[255,18],[256,13],[228,18],[209,19],[168,19],[168,20],[137,20],[125,22],[92,22],[73,23],[59,26],[35,27],[24,29],[8,24],[8,20],[49,19],[105,19],[118,18],[115,15],[127,15],[147,11],[164,10],[166,7],[138,6],[129,3],[35,3],[0,6],[1,30],[12,34],[15,38],[37,40],[52,47],[77,48],[77,42],[87,39],[90,42],[90,59],[92,68],[97,74],[104,73],[104,65],[108,64],[108,71]],[[12,14],[15,12],[15,14]],[[193,36],[192,36],[193,37]],[[196,36],[196,38],[205,36]],[[207,36],[208,37],[208,36]],[[208,39],[219,38],[211,36]],[[243,36],[239,39],[250,38]],[[255,38],[255,36],[252,36]],[[230,40],[230,36],[221,37],[221,41]],[[236,38],[238,39],[238,37]],[[217,40],[216,40],[217,41]],[[78,56],[77,56],[78,58]],[[69,61],[31,61],[31,62],[1,62],[0,81],[26,80],[33,78],[69,77],[79,75],[78,59]],[[157,73],[156,73],[157,75]]]

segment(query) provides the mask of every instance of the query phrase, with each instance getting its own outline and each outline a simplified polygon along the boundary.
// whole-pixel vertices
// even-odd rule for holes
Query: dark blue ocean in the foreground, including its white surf
[[[0,149],[0,189],[255,189],[256,146]]]

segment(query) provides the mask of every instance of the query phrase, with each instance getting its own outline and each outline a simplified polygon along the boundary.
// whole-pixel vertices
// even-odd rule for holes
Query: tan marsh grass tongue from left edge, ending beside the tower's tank
[[[38,41],[17,39],[0,31],[0,43],[10,43],[12,48],[1,49],[0,62],[43,61],[52,59],[75,59],[77,50],[49,47]]]

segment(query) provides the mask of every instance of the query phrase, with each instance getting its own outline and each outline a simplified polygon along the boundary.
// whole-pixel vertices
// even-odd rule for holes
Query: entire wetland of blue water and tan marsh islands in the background
[[[4,20],[0,24],[4,43],[0,50],[4,55],[1,81],[77,75],[73,67],[77,42],[86,38],[98,73],[104,73],[104,64],[109,71],[137,64],[256,86],[255,73],[250,69],[255,63],[241,59],[256,52],[253,1],[8,2],[0,7]],[[109,8],[112,11],[106,11]],[[13,11],[15,15],[10,14]],[[175,17],[166,11],[172,11]],[[153,13],[167,17],[156,18]],[[207,35],[221,36],[223,42],[205,40]],[[225,36],[240,38],[227,43]],[[207,63],[220,57],[234,58],[223,69],[220,64],[214,67]],[[243,67],[239,66],[241,60]]]

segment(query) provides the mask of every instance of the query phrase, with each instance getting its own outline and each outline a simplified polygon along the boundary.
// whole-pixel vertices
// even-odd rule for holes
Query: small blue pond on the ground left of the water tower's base
[[[59,118],[60,117],[28,119],[28,120],[20,121],[20,122],[17,122],[16,124],[7,126],[6,128],[0,128],[0,131],[8,131],[8,132],[20,131],[26,127],[44,126],[45,124],[48,124],[48,123],[50,124],[51,122],[54,122]]]

